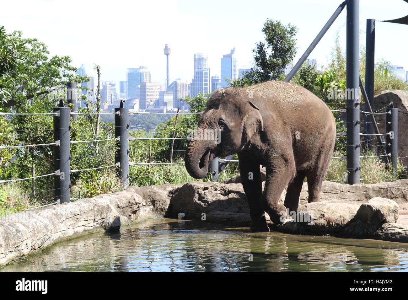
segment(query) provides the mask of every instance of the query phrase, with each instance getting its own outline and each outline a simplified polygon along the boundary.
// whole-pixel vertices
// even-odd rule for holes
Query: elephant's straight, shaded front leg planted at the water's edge
[[[241,174],[242,186],[248,201],[251,213],[251,231],[269,231],[266,224],[265,211],[261,207],[262,178],[259,171],[259,163],[245,154],[239,153],[239,173]]]

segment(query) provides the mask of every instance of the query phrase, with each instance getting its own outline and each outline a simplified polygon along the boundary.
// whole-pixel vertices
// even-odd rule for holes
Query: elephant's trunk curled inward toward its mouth
[[[184,163],[188,174],[201,179],[208,173],[208,164],[215,158],[214,141],[191,140],[188,143]]]

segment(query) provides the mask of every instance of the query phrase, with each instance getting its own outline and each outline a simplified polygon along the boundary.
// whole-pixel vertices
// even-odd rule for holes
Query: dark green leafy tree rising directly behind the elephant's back
[[[262,32],[265,41],[256,43],[253,49],[257,69],[251,69],[232,82],[232,86],[244,87],[268,80],[283,80],[286,66],[296,55],[297,28],[292,24],[285,26],[281,21],[267,19]]]

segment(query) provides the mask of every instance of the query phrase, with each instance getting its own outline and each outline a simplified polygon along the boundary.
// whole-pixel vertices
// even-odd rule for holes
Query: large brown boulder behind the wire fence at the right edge
[[[398,156],[404,167],[408,167],[408,91],[383,91],[374,97],[373,111],[378,111],[388,104],[398,108]],[[385,110],[381,110],[385,111]],[[385,133],[385,115],[375,115],[378,129]]]

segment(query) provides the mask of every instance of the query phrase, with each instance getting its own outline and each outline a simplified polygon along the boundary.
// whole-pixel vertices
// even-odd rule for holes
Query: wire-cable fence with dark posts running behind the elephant
[[[387,106],[388,107],[388,106]],[[385,107],[386,108],[386,107]],[[116,110],[116,109],[115,109]],[[339,113],[347,113],[346,109],[336,109],[336,110],[331,110],[332,112],[339,112]],[[57,110],[54,113],[0,113],[0,115],[2,116],[20,116],[20,115],[30,115],[30,116],[34,116],[34,115],[39,115],[39,116],[53,116],[54,120],[59,120],[61,121],[63,119],[63,112],[64,112],[64,108],[61,107],[60,110]],[[54,196],[52,199],[54,199],[55,201],[40,207],[45,207],[47,205],[52,205],[52,204],[58,204],[58,203],[63,203],[63,202],[69,202],[71,200],[69,194],[67,196],[67,192],[60,194],[60,190],[62,185],[61,180],[58,179],[58,177],[61,177],[61,175],[63,175],[64,173],[68,172],[68,173],[76,173],[76,172],[84,172],[84,171],[91,171],[91,170],[98,170],[98,169],[106,169],[106,168],[115,168],[115,170],[117,170],[118,172],[118,176],[121,178],[122,182],[124,182],[124,185],[129,184],[129,166],[155,166],[155,165],[171,165],[171,164],[183,164],[184,162],[151,162],[150,161],[150,157],[149,157],[149,162],[130,162],[129,161],[129,141],[134,141],[134,140],[169,140],[169,141],[175,141],[175,140],[191,140],[192,137],[173,137],[173,138],[157,138],[157,137],[134,137],[134,136],[129,136],[129,122],[127,120],[128,116],[132,116],[132,115],[150,115],[150,114],[160,114],[160,115],[165,115],[165,114],[175,114],[175,115],[181,115],[181,114],[186,114],[186,115],[200,115],[202,114],[202,112],[177,112],[177,113],[173,113],[173,112],[168,112],[168,113],[158,113],[158,112],[129,112],[129,109],[123,109],[123,108],[119,108],[117,111],[113,112],[113,113],[78,113],[78,112],[72,112],[72,111],[67,111],[67,115],[68,115],[68,126],[67,124],[65,124],[64,126],[62,126],[61,122],[54,122],[54,128],[52,129],[39,129],[39,130],[53,130],[54,132],[59,132],[60,136],[58,136],[58,134],[56,134],[56,137],[58,138],[58,140],[55,140],[54,137],[54,142],[52,143],[43,143],[43,144],[27,144],[27,145],[9,145],[9,146],[0,146],[0,149],[18,149],[18,148],[25,148],[25,147],[42,147],[42,146],[55,146],[57,149],[54,152],[54,158],[50,159],[50,160],[43,160],[42,162],[55,162],[56,166],[61,166],[63,164],[63,162],[61,161],[68,161],[69,162],[69,157],[67,158],[67,153],[69,155],[69,149],[62,149],[62,148],[66,148],[67,147],[67,142],[68,142],[68,146],[70,144],[80,144],[80,143],[98,143],[98,142],[107,142],[107,141],[115,141],[117,148],[115,150],[115,163],[114,164],[110,164],[110,165],[106,165],[106,166],[101,166],[101,167],[93,167],[93,168],[86,168],[86,169],[65,169],[64,171],[57,169],[55,170],[54,173],[49,173],[49,174],[45,174],[45,175],[39,175],[39,176],[31,176],[31,177],[27,177],[27,178],[17,178],[17,179],[10,179],[10,180],[0,180],[0,183],[8,183],[8,182],[17,182],[17,181],[22,181],[22,180],[33,180],[36,178],[44,178],[44,177],[48,177],[48,176],[54,176],[54,182],[59,182],[59,184],[56,184],[57,187],[59,188],[55,188],[55,189],[49,189],[49,190],[45,190],[45,191],[53,191],[54,192]],[[379,111],[375,111],[375,112],[367,112],[367,111],[361,111],[360,113],[363,113],[364,115],[374,115],[374,114],[384,114],[386,116],[391,116],[392,115],[392,111],[386,111],[386,112],[379,112]],[[115,138],[106,138],[106,139],[95,139],[95,140],[69,140],[69,134],[64,136],[64,140],[65,143],[64,145],[62,145],[62,131],[67,131],[69,132],[69,130],[71,129],[69,127],[69,116],[74,117],[74,116],[96,116],[96,115],[114,115],[115,116]],[[118,116],[118,120],[117,120],[117,116]],[[361,121],[362,123],[364,123],[364,121]],[[343,123],[346,123],[346,121],[344,121]],[[375,124],[380,124],[380,122],[371,122],[371,123],[375,123]],[[389,125],[391,122],[381,122],[382,124],[386,124]],[[175,124],[175,128],[177,127],[177,124]],[[178,127],[181,127],[180,125]],[[191,125],[191,127],[195,127],[194,125]],[[120,129],[120,132],[116,132],[116,129]],[[24,131],[24,129],[22,129],[21,131]],[[360,133],[360,136],[364,136],[364,137],[370,137],[370,136],[381,136],[382,138],[385,138],[387,136],[391,136],[393,134],[392,131],[390,132],[386,132],[386,133]],[[336,136],[347,136],[347,132],[338,132],[336,133]],[[67,141],[68,138],[68,141]],[[366,146],[368,147],[384,147],[384,145],[373,145],[373,144],[369,144],[368,142],[374,140],[375,138],[372,139],[367,139],[365,141],[360,141],[361,143],[366,142]],[[394,141],[393,143],[389,143],[386,144],[386,142],[383,142],[383,144],[386,144],[388,146],[395,146],[396,141]],[[349,147],[351,145],[339,145],[338,147]],[[126,148],[127,147],[127,148]],[[55,150],[54,149],[54,150]],[[185,149],[171,149],[171,150],[160,150],[162,152],[173,152],[173,151],[186,151]],[[160,152],[159,151],[159,152]],[[61,156],[64,156],[61,158]],[[382,155],[374,155],[374,156],[359,156],[359,158],[380,158],[380,157],[391,157],[392,154],[391,153],[384,153]],[[127,157],[126,159],[123,159],[124,157]],[[223,168],[225,167],[225,164],[228,163],[237,163],[239,162],[239,160],[233,160],[231,159],[232,156],[229,156],[228,158],[225,159],[219,159],[219,163],[223,164]],[[217,158],[218,159],[218,158]],[[343,160],[347,160],[348,157],[347,155],[340,155],[340,156],[335,156],[332,157],[331,159],[343,159]],[[68,164],[69,165],[69,164]],[[127,167],[125,167],[127,166]],[[126,173],[126,169],[127,169],[127,173]],[[209,170],[210,173],[213,174],[214,170]],[[219,171],[222,171],[222,169],[220,169]],[[56,179],[55,179],[56,178]],[[361,179],[363,180],[363,179]],[[333,182],[342,182],[343,180],[331,180]],[[126,183],[127,182],[127,183]],[[65,184],[66,186],[66,184]],[[67,188],[67,190],[69,191],[69,187]],[[44,191],[44,192],[45,192]],[[41,193],[43,191],[38,191],[38,193]],[[65,196],[65,197],[63,197]],[[69,198],[67,198],[69,197]],[[64,199],[62,199],[64,198]]]

